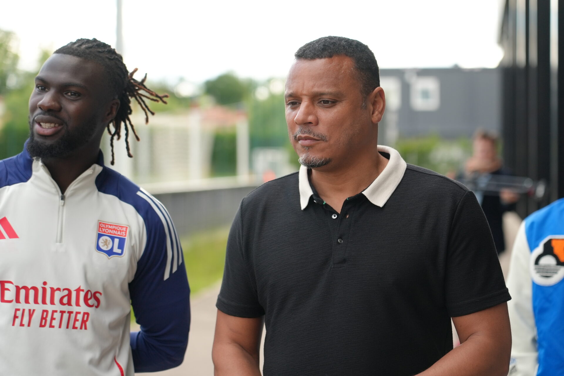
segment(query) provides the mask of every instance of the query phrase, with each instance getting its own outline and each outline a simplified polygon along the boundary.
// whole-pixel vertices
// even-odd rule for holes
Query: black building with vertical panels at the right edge
[[[500,30],[504,160],[548,194],[522,216],[564,197],[564,0],[506,0]]]

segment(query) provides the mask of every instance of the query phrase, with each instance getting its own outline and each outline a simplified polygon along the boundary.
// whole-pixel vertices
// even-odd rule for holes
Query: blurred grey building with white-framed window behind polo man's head
[[[381,143],[437,134],[472,137],[477,128],[501,129],[499,69],[381,69],[386,115]]]

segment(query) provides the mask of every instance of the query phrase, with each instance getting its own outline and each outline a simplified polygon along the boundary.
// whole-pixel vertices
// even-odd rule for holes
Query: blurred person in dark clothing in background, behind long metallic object
[[[472,141],[472,156],[466,160],[463,178],[476,180],[484,176],[510,176],[509,169],[503,167],[497,155],[498,137],[492,132],[478,129]],[[503,234],[503,213],[512,211],[519,200],[519,194],[504,188],[499,192],[475,190],[474,194],[480,203],[490,225],[493,242],[497,253],[505,250]]]

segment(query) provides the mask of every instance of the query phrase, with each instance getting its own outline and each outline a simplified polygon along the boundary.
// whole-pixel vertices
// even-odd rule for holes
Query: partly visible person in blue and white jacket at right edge
[[[509,266],[510,376],[564,375],[564,199],[525,218]]]

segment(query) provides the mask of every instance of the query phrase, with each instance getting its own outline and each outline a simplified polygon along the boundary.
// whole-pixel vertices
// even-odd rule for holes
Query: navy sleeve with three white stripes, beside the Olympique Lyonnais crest
[[[152,209],[148,209],[151,215],[143,216],[147,244],[129,284],[131,305],[141,327],[131,333],[131,351],[135,372],[154,372],[178,366],[184,359],[190,287],[182,247],[168,212],[151,195],[138,195]]]

